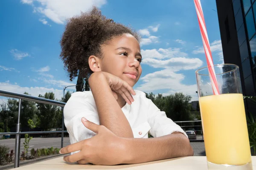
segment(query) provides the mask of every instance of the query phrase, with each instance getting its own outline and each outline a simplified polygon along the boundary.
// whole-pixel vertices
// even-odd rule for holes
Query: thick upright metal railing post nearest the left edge
[[[19,99],[18,122],[16,125],[16,132],[20,132],[20,109],[21,109],[21,99]],[[14,168],[16,167],[20,167],[20,135],[19,134],[16,134],[16,138],[15,138]]]

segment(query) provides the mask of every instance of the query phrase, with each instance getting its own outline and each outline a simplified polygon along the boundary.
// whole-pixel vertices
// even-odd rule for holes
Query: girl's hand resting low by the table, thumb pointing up
[[[70,144],[60,150],[61,154],[79,151],[70,156],[64,156],[67,162],[78,162],[79,164],[115,165],[124,163],[126,154],[125,138],[116,136],[105,126],[96,125],[82,118],[85,127],[96,133],[90,139]]]

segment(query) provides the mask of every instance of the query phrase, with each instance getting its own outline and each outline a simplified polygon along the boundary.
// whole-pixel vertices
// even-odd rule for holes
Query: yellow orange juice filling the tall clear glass
[[[199,98],[207,161],[243,165],[251,162],[242,94]]]

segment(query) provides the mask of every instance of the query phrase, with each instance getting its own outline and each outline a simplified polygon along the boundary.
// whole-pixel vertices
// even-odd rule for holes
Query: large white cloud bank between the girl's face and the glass
[[[182,81],[186,78],[184,74],[178,74],[181,70],[195,70],[202,66],[203,62],[198,58],[188,58],[188,54],[181,51],[182,48],[159,48],[151,50],[142,50],[142,64],[153,68],[163,68],[161,71],[155,71],[140,78],[143,84],[136,90],[144,92],[153,92],[163,90],[164,96],[182,92],[192,96],[192,100],[198,100],[195,93],[196,84],[185,85]],[[196,82],[195,82],[196,83]]]

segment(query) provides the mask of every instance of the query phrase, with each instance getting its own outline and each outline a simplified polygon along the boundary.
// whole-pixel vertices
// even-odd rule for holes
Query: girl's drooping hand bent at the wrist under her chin
[[[110,86],[113,96],[117,100],[117,94],[121,95],[123,99],[125,99],[125,102],[127,102],[129,105],[131,105],[131,102],[134,102],[134,99],[131,95],[136,95],[134,89],[124,80],[120,79],[117,76],[114,76],[113,74],[100,71],[100,72],[95,72],[93,74],[103,74],[107,81],[108,85]],[[93,75],[92,74],[92,75]],[[91,76],[92,76],[91,75]],[[90,78],[89,78],[90,82]]]

